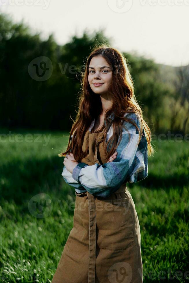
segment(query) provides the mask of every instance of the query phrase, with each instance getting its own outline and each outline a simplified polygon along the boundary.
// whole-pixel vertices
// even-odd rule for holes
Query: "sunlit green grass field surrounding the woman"
[[[73,225],[75,189],[58,157],[68,133],[9,131],[1,129],[0,142],[0,282],[51,282]],[[140,223],[143,282],[186,282],[189,143],[153,144],[147,178],[127,186]]]

